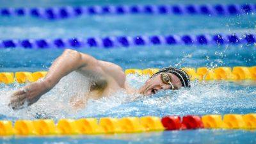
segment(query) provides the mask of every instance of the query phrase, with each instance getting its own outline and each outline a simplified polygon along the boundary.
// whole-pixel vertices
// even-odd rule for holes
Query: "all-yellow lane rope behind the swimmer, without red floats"
[[[184,67],[191,80],[224,80],[224,81],[241,81],[241,80],[256,80],[256,66],[254,67],[216,67],[216,68],[190,68]],[[126,69],[125,74],[138,74],[152,76],[158,72],[158,68],[146,68],[146,69]],[[0,72],[0,83],[12,84],[15,81],[17,83],[35,82],[38,79],[45,77],[47,72]]]

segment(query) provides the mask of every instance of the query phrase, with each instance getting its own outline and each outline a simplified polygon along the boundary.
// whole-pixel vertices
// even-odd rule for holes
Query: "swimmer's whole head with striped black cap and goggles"
[[[140,88],[143,95],[152,95],[160,90],[179,90],[190,87],[188,74],[179,68],[167,67],[150,77]]]

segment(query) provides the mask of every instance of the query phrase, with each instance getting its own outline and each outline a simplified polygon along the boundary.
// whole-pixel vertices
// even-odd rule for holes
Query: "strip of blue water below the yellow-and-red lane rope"
[[[243,143],[255,143],[255,132],[195,130],[146,132],[141,134],[117,134],[114,136],[68,136],[57,138],[21,137],[6,138],[4,143],[239,143],[237,141],[243,141]]]

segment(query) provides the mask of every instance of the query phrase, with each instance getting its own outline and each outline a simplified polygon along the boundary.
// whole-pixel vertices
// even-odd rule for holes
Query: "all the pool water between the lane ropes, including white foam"
[[[237,3],[253,1],[237,1]],[[188,1],[0,1],[1,7],[65,6],[92,4],[175,4]],[[206,3],[189,1],[189,3]],[[234,3],[234,1],[211,1]],[[0,17],[0,39],[8,38],[72,38],[119,35],[168,35],[255,33],[255,14],[228,17],[204,15],[112,15],[83,16],[49,21],[33,17]],[[122,68],[175,67],[234,67],[254,66],[255,45],[166,45],[129,48],[88,48],[77,51],[91,54],[97,59],[111,61]],[[0,72],[47,70],[63,49],[0,49]],[[148,76],[127,76],[127,81],[138,88]],[[29,108],[13,111],[8,108],[9,95],[22,84],[0,84],[0,119],[20,118],[81,118],[103,116],[164,116],[206,115],[256,112],[256,83],[198,82],[191,89],[160,92],[152,97],[127,95],[118,92],[111,97],[90,100],[86,108],[73,111],[67,104],[70,96],[88,90],[88,79],[72,73]],[[68,137],[9,137],[0,143],[255,143],[254,131],[195,130],[171,132],[147,132],[141,134],[115,134]]]

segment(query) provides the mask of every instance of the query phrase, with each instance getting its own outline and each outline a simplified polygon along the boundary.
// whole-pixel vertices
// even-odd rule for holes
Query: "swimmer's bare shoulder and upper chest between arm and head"
[[[77,70],[80,74],[90,78],[90,90],[85,94],[83,102],[75,100],[78,104],[84,104],[84,100],[87,99],[108,97],[116,91],[125,88],[125,74],[121,67],[106,61],[99,61],[99,65],[100,67],[97,67],[97,72],[83,67]]]

